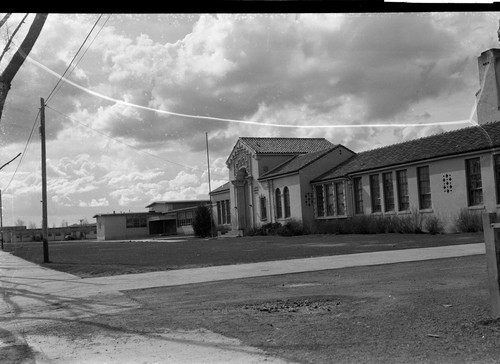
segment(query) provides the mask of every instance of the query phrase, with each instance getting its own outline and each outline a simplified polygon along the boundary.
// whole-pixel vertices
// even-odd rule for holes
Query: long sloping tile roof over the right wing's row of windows
[[[431,158],[500,147],[500,122],[471,126],[361,152],[312,182]]]

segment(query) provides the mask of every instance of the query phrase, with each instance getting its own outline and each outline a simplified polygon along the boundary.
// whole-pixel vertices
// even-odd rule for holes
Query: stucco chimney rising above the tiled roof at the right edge
[[[500,121],[500,49],[492,48],[478,57],[479,91],[477,122]]]

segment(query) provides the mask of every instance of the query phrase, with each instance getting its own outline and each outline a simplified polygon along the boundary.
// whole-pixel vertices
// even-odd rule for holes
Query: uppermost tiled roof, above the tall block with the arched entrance
[[[312,153],[334,146],[325,138],[240,137],[257,154]]]

